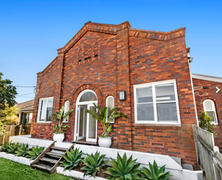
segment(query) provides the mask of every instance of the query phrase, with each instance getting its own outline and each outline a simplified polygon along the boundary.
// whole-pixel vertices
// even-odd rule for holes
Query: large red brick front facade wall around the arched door
[[[129,28],[127,22],[118,26],[87,23],[58,50],[57,59],[38,74],[32,137],[52,139],[53,136],[53,123],[35,123],[39,98],[54,96],[53,111],[66,100],[75,110],[79,93],[91,89],[97,94],[99,105],[104,107],[106,97],[112,95],[115,106],[129,116],[128,121],[115,121],[112,147],[177,156],[196,166],[192,132],[196,119],[185,30],[151,33]],[[177,82],[181,126],[134,125],[133,85],[168,79]],[[122,90],[126,91],[125,101],[118,98]],[[65,141],[73,141],[75,111],[68,124]],[[101,133],[98,124],[98,136]],[[164,147],[154,147],[151,143],[163,143]]]

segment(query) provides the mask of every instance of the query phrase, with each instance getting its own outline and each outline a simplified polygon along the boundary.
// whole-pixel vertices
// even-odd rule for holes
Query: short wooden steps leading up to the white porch
[[[59,166],[59,162],[62,160],[62,155],[66,155],[66,151],[69,151],[71,148],[73,148],[73,146],[74,144],[69,148],[64,148],[62,147],[62,143],[56,144],[53,142],[35,159],[35,161],[32,162],[31,167],[49,173],[54,173],[56,168]]]

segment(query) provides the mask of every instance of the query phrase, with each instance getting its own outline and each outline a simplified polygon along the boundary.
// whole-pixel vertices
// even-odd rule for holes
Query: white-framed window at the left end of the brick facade
[[[39,100],[38,122],[51,122],[53,98]]]

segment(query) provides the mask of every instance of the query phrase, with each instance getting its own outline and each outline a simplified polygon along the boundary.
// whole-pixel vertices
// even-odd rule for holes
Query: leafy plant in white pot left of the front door
[[[59,113],[52,113],[53,121],[56,121],[57,124],[54,126],[55,132],[53,135],[53,140],[57,142],[62,142],[64,140],[64,131],[66,130],[69,125],[64,125],[64,120],[73,112],[73,109],[63,113],[65,106],[63,106]]]

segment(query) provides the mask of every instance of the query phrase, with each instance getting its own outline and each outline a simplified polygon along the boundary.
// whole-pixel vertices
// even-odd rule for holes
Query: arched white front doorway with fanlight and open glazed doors
[[[86,112],[95,110],[93,103],[98,103],[94,91],[87,89],[79,94],[76,100],[74,141],[96,142],[97,120]]]

